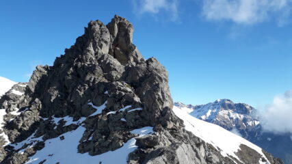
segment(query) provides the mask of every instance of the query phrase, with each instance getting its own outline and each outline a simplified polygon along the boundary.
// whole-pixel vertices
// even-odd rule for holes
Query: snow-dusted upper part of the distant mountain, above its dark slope
[[[181,102],[174,105],[195,118],[220,125],[228,131],[252,130],[259,124],[253,107],[228,99],[218,99],[207,105],[184,105]]]

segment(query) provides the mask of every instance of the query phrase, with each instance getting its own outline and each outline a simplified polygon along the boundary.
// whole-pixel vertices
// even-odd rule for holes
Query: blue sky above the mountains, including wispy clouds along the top
[[[289,0],[1,1],[0,76],[28,81],[90,20],[118,14],[142,55],[168,69],[174,101],[262,107],[292,89],[291,9]]]

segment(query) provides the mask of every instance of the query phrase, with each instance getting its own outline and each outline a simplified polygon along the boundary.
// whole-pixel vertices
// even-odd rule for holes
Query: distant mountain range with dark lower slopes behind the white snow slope
[[[184,105],[174,102],[174,106],[190,115],[217,124],[260,146],[267,152],[292,163],[291,134],[274,134],[263,131],[254,107],[244,103],[235,103],[228,99],[218,99],[206,105]]]

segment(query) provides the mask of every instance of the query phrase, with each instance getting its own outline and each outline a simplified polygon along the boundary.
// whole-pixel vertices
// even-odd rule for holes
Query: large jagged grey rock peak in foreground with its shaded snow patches
[[[168,72],[132,37],[120,16],[91,21],[53,66],[3,95],[1,163],[282,163],[246,142],[226,154],[187,131]]]

